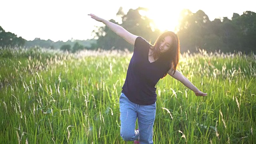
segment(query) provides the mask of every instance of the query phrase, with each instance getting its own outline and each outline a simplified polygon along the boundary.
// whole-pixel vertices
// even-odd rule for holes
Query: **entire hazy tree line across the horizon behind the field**
[[[130,9],[127,14],[119,8],[116,13],[121,22],[114,19],[110,21],[119,24],[132,34],[142,36],[152,44],[161,33],[155,26],[154,21],[143,15],[146,8]],[[166,13],[168,15],[168,13]],[[35,38],[27,41],[22,37],[17,37],[11,32],[5,32],[0,26],[0,47],[4,46],[39,46],[44,48],[60,49],[69,52],[76,52],[82,49],[103,49],[103,50],[133,50],[133,46],[120,38],[106,26],[96,27],[92,31],[94,39],[92,40],[68,40],[67,42],[52,40],[41,40]],[[242,15],[233,13],[231,19],[227,17],[215,18],[210,21],[208,16],[198,10],[192,13],[188,9],[180,12],[179,25],[176,27],[176,33],[180,38],[181,52],[197,52],[198,49],[204,49],[208,52],[256,52],[256,13],[251,11],[243,12]]]

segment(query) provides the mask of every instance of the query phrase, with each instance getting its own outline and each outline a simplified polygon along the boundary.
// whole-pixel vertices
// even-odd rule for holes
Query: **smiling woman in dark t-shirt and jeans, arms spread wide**
[[[120,135],[125,141],[152,144],[153,125],[156,116],[155,85],[167,74],[179,80],[196,96],[207,96],[176,70],[179,61],[179,39],[174,32],[164,32],[154,45],[140,36],[131,34],[121,26],[88,14],[103,22],[118,36],[134,45],[134,53],[128,66],[126,80],[120,96]],[[135,130],[138,118],[138,130]]]

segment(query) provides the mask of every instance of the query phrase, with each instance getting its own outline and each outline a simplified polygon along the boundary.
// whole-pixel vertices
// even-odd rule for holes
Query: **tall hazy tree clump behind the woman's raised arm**
[[[135,34],[137,36],[142,36],[150,42],[154,42],[160,31],[154,26],[153,20],[149,19],[147,16],[143,16],[140,12],[147,11],[146,8],[137,8],[135,10],[130,9],[127,14],[124,14],[122,7],[117,12],[117,16],[122,19],[122,24],[119,24],[128,32]],[[114,24],[118,24],[115,20],[110,20]],[[129,44],[123,38],[120,38],[107,26],[98,27],[94,30],[95,38],[97,39],[97,46],[103,50],[133,50],[133,46]]]

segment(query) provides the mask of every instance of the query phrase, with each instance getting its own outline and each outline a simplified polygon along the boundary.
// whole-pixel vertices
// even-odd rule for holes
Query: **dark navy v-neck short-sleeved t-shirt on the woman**
[[[142,37],[137,37],[133,56],[128,66],[122,93],[135,104],[151,105],[156,102],[156,84],[170,70],[167,62],[148,61],[152,45]]]

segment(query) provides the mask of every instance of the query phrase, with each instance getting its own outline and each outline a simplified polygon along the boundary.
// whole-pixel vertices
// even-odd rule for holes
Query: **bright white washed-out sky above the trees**
[[[92,39],[96,26],[104,26],[87,14],[96,14],[106,20],[118,21],[120,7],[148,8],[146,13],[158,29],[172,30],[178,24],[182,9],[195,13],[202,10],[212,21],[232,18],[245,11],[256,12],[253,0],[0,0],[0,26],[26,40],[87,40]]]

